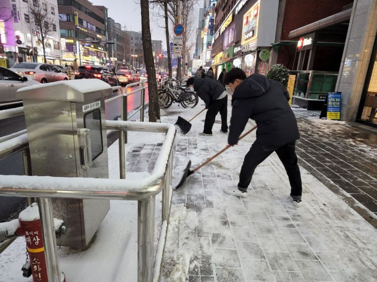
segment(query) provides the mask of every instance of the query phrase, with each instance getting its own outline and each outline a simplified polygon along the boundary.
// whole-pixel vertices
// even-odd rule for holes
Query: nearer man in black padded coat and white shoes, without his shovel
[[[238,187],[224,192],[246,197],[256,167],[276,152],[288,174],[290,199],[299,207],[302,184],[295,149],[300,134],[285,86],[260,74],[246,78],[239,68],[231,69],[224,82],[233,91],[228,146],[237,144],[248,119],[255,120],[258,126],[257,139],[243,160]]]

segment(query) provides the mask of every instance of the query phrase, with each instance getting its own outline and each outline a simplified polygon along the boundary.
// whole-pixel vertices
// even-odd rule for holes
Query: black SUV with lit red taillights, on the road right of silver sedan
[[[83,78],[98,78],[106,83],[109,83],[111,86],[118,86],[119,79],[112,73],[108,67],[104,66],[79,66],[77,72],[74,75],[74,79],[83,79]]]

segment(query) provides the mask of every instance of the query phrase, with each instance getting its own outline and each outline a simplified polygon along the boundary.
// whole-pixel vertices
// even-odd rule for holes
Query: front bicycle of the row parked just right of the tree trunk
[[[172,106],[173,103],[179,103],[184,108],[194,108],[199,99],[196,93],[189,89],[185,86],[174,86],[170,80],[165,81],[158,91],[159,107],[165,109]]]

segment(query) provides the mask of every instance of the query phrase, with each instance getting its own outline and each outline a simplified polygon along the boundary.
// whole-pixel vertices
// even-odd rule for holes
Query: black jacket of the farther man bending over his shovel
[[[195,78],[194,90],[201,100],[205,103],[207,109],[213,100],[216,100],[225,91],[225,87],[211,78]]]

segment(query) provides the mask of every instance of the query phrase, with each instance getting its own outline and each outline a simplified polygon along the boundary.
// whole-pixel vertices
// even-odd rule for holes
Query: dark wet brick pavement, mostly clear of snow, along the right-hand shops
[[[300,165],[377,215],[377,134],[344,122],[320,120],[317,111],[294,112],[301,134]],[[358,205],[352,206],[357,209]]]

